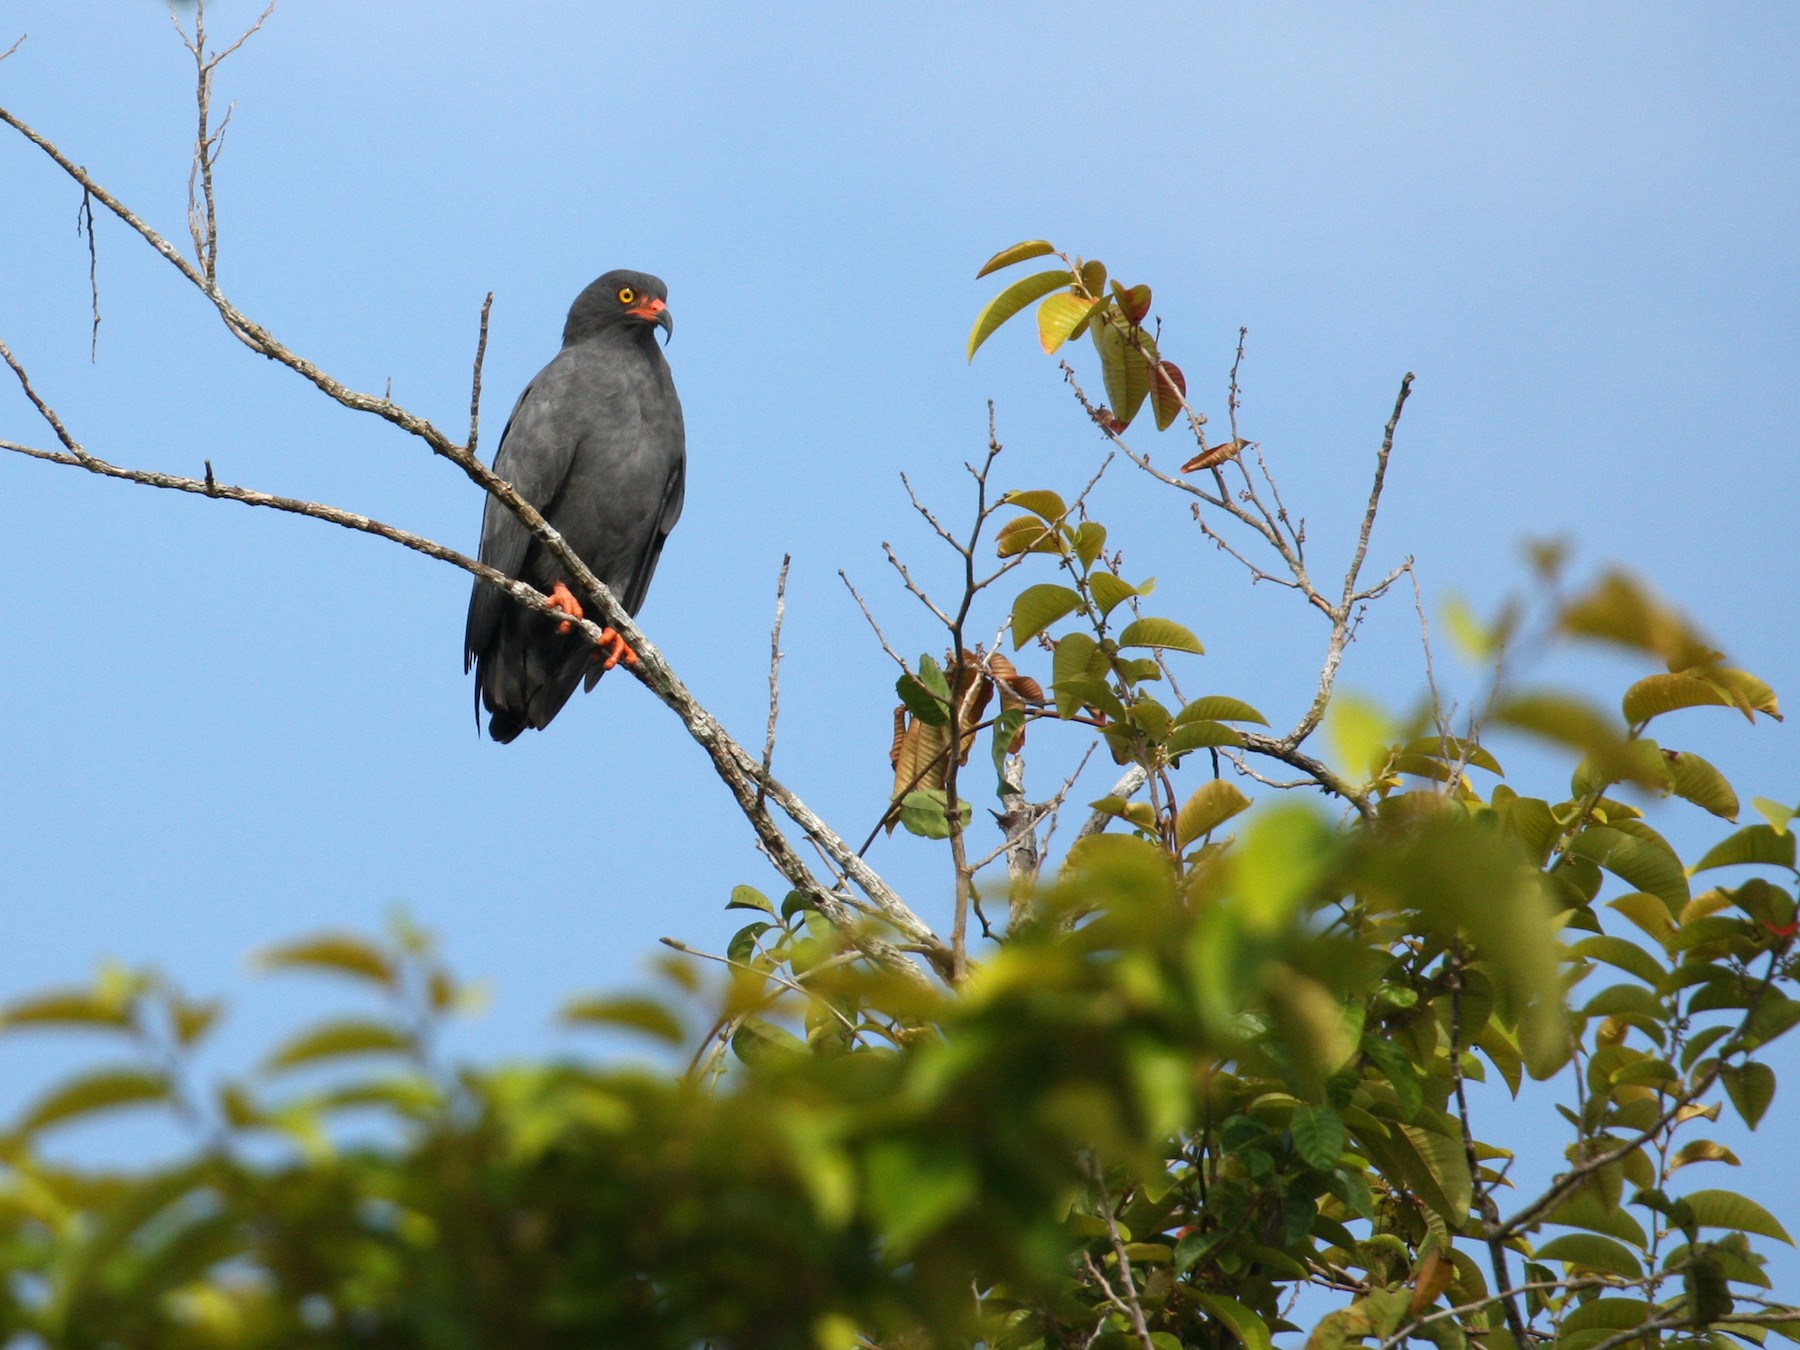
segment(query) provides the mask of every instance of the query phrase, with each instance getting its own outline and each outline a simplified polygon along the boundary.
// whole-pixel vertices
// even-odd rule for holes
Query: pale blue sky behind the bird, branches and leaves
[[[212,5],[218,32],[254,14]],[[0,0],[0,49],[18,32],[0,103],[184,238],[193,76],[167,11]],[[1415,554],[1431,603],[1490,605],[1523,580],[1521,538],[1571,533],[1800,697],[1796,70],[1786,4],[288,0],[220,76],[238,101],[220,268],[283,340],[362,389],[392,378],[452,430],[493,290],[490,450],[574,293],[612,266],[662,275],[689,488],[641,623],[760,743],[790,551],[778,770],[860,839],[893,677],[835,572],[907,653],[940,639],[880,540],[931,585],[950,576],[898,470],[963,511],[988,398],[1003,486],[1073,491],[1102,454],[1024,326],[963,360],[995,290],[976,268],[1031,236],[1150,283],[1206,410],[1249,328],[1246,432],[1316,558],[1346,547],[1417,371],[1372,567]],[[0,337],[95,454],[211,459],[473,549],[459,472],[247,355],[110,220],[90,364],[77,205],[0,137]],[[16,392],[0,434],[43,441]],[[1143,445],[1181,454],[1147,425]],[[1094,509],[1206,641],[1190,689],[1291,722],[1318,616],[1249,587],[1129,466]],[[734,884],[779,889],[628,679],[545,734],[477,740],[452,569],[18,459],[0,461],[0,995],[149,961],[229,995],[220,1062],[243,1064],[320,1006],[250,979],[245,954],[403,900],[493,985],[466,1049],[542,1053],[578,1044],[551,1024],[565,995],[639,979],[661,934],[716,950]],[[1607,693],[1627,668],[1580,670]],[[1415,697],[1409,599],[1372,617],[1345,682]],[[1800,799],[1791,724],[1681,718],[1665,743],[1687,736],[1746,799]],[[1033,736],[1035,781],[1078,751]],[[1652,819],[1692,844],[1694,815]],[[900,837],[871,859],[947,916],[936,851]],[[72,1049],[0,1048],[0,1105]],[[1791,1168],[1768,1175],[1780,1114],[1746,1152],[1766,1175],[1739,1181],[1791,1206]]]

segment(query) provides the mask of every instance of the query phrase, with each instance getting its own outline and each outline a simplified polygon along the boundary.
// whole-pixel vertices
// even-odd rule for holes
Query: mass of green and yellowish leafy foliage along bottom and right
[[[1737,1165],[1714,1127],[1726,1109],[1750,1129],[1764,1120],[1766,1051],[1800,1022],[1795,812],[1757,799],[1760,821],[1739,824],[1735,788],[1685,738],[1706,716],[1778,716],[1775,693],[1625,574],[1571,589],[1544,549],[1535,619],[1530,607],[1492,623],[1449,614],[1492,673],[1460,725],[1435,689],[1413,715],[1334,695],[1361,608],[1409,571],[1357,580],[1411,376],[1341,598],[1327,596],[1303,526],[1237,432],[1235,371],[1231,436],[1210,445],[1145,326],[1147,286],[1109,286],[1102,265],[1042,241],[985,270],[1051,254],[1062,266],[981,313],[970,355],[1031,302],[1046,351],[1093,337],[1111,407],[1066,374],[1100,432],[1192,491],[1220,547],[1202,508],[1251,529],[1287,565],[1292,581],[1278,583],[1328,619],[1319,693],[1294,731],[1253,731],[1267,720],[1235,695],[1179,695],[1172,661],[1201,655],[1201,639],[1147,612],[1154,581],[1109,551],[1085,490],[990,497],[994,441],[970,466],[967,542],[920,508],[961,554],[961,605],[931,605],[902,569],[949,650],[895,657],[880,821],[954,859],[940,981],[871,958],[895,949],[833,927],[799,891],[740,886],[727,907],[752,918],[724,956],[671,943],[661,992],[567,1008],[572,1024],[648,1037],[664,1069],[446,1058],[446,1022],[472,995],[405,922],[382,940],[319,934],[265,952],[281,977],[358,986],[360,1010],[225,1082],[196,1067],[218,1006],[151,972],[14,1003],[5,1037],[79,1030],[112,1055],[0,1136],[0,1339],[1800,1341],[1800,1310],[1764,1274],[1768,1244],[1791,1240],[1782,1219],[1688,1172]],[[1199,455],[1181,473],[1211,475],[1217,493],[1120,439],[1147,403],[1157,427],[1186,421]],[[1228,486],[1228,470],[1242,481]],[[977,545],[995,569],[985,578]],[[1017,569],[1039,580],[1004,596],[1004,657],[965,641],[965,621]],[[1514,688],[1526,657],[1582,643],[1649,670],[1613,706]],[[1303,749],[1319,727],[1330,763]],[[1039,826],[1067,783],[1051,803],[1026,799],[1028,729],[1033,745],[1094,736],[1125,769],[1053,864]],[[1535,794],[1501,781],[1487,742],[1503,734],[1537,742]],[[970,767],[983,736],[992,779],[983,760]],[[1287,765],[1305,790],[1276,790],[1296,783],[1253,763]],[[1238,783],[1269,790],[1253,799]],[[972,860],[965,837],[986,823],[970,794],[990,787],[1003,839]],[[1701,851],[1649,823],[1660,799],[1690,814],[1683,835],[1706,824]],[[988,880],[992,862],[1004,882]],[[997,927],[983,902],[1004,905]],[[1516,1129],[1483,1129],[1469,1093],[1489,1084],[1474,1105],[1492,1105],[1526,1078],[1548,1084],[1537,1100],[1566,1130],[1561,1172],[1535,1193],[1508,1175]],[[189,1152],[131,1172],[56,1161],[61,1127],[122,1109],[173,1112]]]

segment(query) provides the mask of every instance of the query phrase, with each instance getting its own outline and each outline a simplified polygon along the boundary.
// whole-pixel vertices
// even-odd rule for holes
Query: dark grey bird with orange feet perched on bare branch
[[[655,329],[675,333],[668,288],[644,272],[608,272],[569,308],[563,346],[513,405],[493,472],[509,481],[569,547],[637,614],[680,517],[688,466],[675,380]],[[527,581],[571,617],[569,576],[518,518],[488,499],[481,560]],[[637,653],[607,630],[594,643],[571,623],[527,610],[488,581],[468,599],[463,670],[475,670],[475,718],[509,742],[549,725],[576,686]]]

